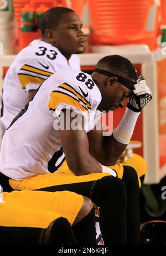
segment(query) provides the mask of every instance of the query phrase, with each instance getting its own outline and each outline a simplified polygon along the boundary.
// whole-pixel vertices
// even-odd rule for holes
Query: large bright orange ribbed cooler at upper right
[[[89,0],[89,8],[92,44],[157,48],[160,7],[154,0]]]

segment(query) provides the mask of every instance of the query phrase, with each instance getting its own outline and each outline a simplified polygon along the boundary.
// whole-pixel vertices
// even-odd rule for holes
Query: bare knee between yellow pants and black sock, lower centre
[[[77,224],[83,218],[85,218],[91,212],[92,208],[94,208],[92,201],[88,197],[84,197],[82,207],[79,213],[77,214],[74,224]]]

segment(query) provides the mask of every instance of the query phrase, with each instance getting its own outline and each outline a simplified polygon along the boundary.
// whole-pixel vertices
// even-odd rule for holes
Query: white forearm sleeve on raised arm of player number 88
[[[118,124],[118,127],[113,130],[113,137],[122,144],[128,144],[132,137],[137,118],[141,112],[134,112],[126,108],[125,114]]]

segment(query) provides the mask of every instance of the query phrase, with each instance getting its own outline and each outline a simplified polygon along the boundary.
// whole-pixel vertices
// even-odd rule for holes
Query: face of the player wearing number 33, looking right
[[[56,28],[56,44],[59,51],[69,59],[71,54],[84,52],[82,22],[74,12],[65,13]]]

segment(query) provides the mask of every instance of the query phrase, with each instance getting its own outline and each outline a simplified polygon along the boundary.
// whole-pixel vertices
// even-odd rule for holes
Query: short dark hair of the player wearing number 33
[[[58,26],[64,13],[74,12],[72,9],[66,7],[53,7],[43,14],[40,24],[42,36],[45,35],[46,29],[53,29]]]

